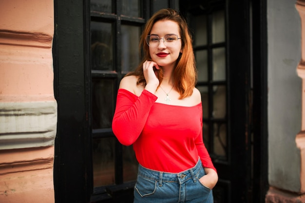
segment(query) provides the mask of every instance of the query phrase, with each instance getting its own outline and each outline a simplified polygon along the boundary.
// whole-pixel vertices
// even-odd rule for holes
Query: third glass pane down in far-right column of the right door
[[[213,87],[213,117],[226,118],[226,86]]]

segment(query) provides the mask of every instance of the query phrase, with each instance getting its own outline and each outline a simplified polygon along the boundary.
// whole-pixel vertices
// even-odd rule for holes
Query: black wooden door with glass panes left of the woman
[[[174,0],[55,0],[56,203],[132,203],[137,162],[111,129],[143,25]]]

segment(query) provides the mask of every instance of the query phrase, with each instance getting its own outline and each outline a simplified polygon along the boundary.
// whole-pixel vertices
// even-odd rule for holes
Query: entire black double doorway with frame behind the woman
[[[133,202],[136,162],[131,148],[114,139],[110,122],[119,81],[139,60],[135,50],[142,26],[166,7],[180,7],[194,36],[204,139],[220,178],[214,202],[263,203],[267,189],[263,1],[55,0],[56,203]],[[214,35],[215,31],[219,33]],[[126,55],[126,49],[136,54]]]

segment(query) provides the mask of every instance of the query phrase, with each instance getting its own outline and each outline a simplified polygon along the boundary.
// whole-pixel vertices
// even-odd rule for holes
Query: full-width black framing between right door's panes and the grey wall
[[[227,7],[231,202],[264,203],[268,189],[267,2],[228,0]]]

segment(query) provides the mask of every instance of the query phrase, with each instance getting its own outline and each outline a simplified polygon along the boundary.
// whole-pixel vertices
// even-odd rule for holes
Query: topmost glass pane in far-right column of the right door
[[[225,11],[212,14],[212,42],[225,42]]]

